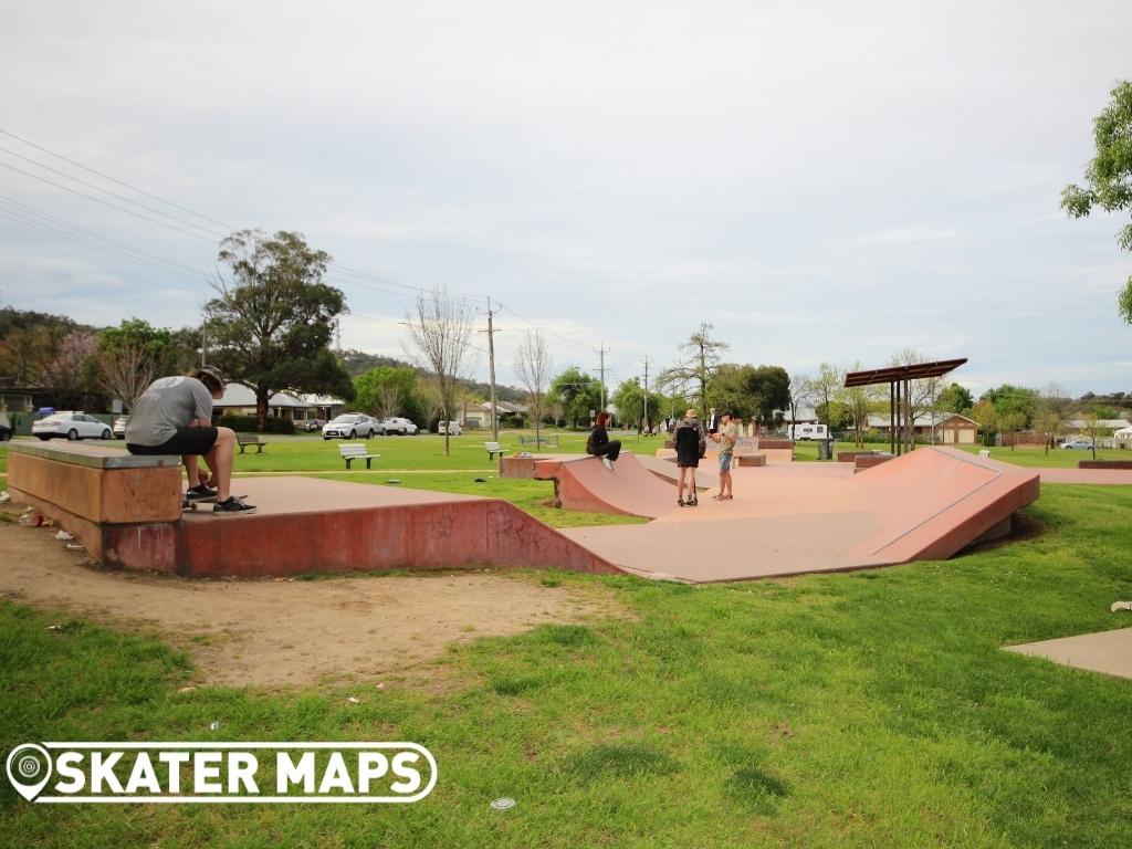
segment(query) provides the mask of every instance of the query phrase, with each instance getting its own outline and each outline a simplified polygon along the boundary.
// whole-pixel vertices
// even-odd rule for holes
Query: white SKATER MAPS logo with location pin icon
[[[415,743],[25,743],[8,781],[28,801],[409,804],[436,786]]]

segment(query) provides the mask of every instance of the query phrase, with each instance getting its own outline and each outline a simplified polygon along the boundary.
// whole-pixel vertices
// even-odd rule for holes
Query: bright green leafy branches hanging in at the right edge
[[[1112,100],[1092,122],[1097,155],[1084,169],[1084,187],[1069,185],[1061,206],[1070,217],[1083,218],[1095,208],[1106,213],[1132,212],[1132,82],[1117,83]],[[1132,250],[1132,224],[1116,233],[1124,250]],[[1132,324],[1132,276],[1117,297],[1121,317]]]

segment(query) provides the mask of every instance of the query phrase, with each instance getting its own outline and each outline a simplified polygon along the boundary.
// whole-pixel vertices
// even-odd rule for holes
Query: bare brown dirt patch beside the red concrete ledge
[[[201,684],[374,678],[452,643],[624,612],[600,586],[547,586],[538,576],[496,572],[189,581],[104,571],[65,549],[57,530],[0,522],[0,597],[155,629],[191,654]]]

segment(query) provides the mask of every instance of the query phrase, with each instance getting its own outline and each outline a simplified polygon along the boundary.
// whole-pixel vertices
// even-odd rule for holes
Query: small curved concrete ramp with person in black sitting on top
[[[599,457],[584,454],[537,460],[534,479],[552,480],[555,499],[566,509],[655,518],[676,507],[676,487],[645,469],[633,452],[621,452],[615,468],[611,472]]]

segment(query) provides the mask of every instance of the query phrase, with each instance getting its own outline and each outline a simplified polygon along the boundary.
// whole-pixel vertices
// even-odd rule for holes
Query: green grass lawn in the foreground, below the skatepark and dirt
[[[1132,818],[1132,681],[1000,651],[1127,626],[1132,490],[1044,487],[945,563],[694,589],[574,574],[629,618],[454,648],[444,687],[177,689],[152,637],[0,603],[0,744],[408,739],[412,806],[48,806],[6,846],[1089,847]],[[363,578],[363,580],[381,580]],[[362,692],[361,704],[346,695]],[[214,719],[217,734],[207,730]],[[492,812],[512,796],[517,806]]]

